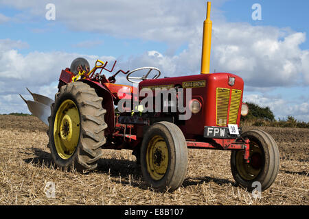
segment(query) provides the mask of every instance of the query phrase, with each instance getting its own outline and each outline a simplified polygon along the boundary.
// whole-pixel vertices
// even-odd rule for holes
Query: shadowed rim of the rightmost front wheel
[[[252,180],[262,170],[262,150],[255,142],[250,142],[250,163],[244,162],[244,151],[236,153],[236,168],[242,179]]]

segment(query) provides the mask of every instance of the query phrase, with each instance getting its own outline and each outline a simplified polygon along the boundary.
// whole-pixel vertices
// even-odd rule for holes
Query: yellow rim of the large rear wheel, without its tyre
[[[69,159],[80,138],[80,113],[76,104],[67,99],[61,103],[54,122],[54,142],[62,159]]]

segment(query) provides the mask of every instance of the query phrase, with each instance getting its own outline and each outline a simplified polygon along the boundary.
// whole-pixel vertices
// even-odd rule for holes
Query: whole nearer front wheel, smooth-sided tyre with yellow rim
[[[141,172],[159,192],[181,186],[187,174],[187,144],[179,127],[168,122],[149,127],[141,143]]]

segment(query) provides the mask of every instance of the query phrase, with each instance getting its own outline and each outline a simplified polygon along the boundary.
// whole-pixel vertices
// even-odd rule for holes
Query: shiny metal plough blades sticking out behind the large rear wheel
[[[46,125],[49,125],[48,117],[50,116],[50,106],[54,103],[54,101],[47,96],[34,94],[28,88],[27,90],[32,95],[34,101],[27,101],[23,96],[21,96],[21,94],[19,94],[19,96],[21,96],[21,99],[25,101],[32,115],[38,117]]]

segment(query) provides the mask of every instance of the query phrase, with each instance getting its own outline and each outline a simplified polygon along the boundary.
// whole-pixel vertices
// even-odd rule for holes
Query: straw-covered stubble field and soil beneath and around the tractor
[[[0,205],[308,205],[309,129],[242,127],[249,129],[270,133],[279,147],[279,173],[262,198],[236,185],[230,151],[189,149],[183,185],[161,193],[143,181],[132,151],[105,150],[98,168],[84,174],[60,170],[47,148],[47,125],[0,115]]]

